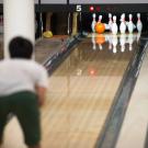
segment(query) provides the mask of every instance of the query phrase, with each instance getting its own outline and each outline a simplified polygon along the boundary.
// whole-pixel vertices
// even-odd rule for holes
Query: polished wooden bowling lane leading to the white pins
[[[138,47],[137,34],[89,34],[48,78],[44,148],[93,148]]]

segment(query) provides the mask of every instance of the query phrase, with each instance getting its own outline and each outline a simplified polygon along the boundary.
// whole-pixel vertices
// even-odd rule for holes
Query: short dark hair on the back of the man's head
[[[33,44],[21,36],[16,36],[10,41],[9,52],[11,58],[30,59],[33,53]]]

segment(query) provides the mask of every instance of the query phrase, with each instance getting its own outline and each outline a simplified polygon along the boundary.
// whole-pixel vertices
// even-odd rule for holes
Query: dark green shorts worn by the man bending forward
[[[23,91],[8,96],[0,96],[0,140],[8,122],[8,115],[14,114],[22,127],[25,144],[37,145],[41,140],[41,123],[37,96],[33,92]]]

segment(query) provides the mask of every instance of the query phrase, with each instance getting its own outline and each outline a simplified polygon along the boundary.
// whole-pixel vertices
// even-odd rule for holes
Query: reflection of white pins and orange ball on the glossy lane
[[[92,49],[103,49],[103,44],[109,44],[109,49],[112,50],[114,54],[117,52],[125,52],[133,50],[133,44],[136,41],[138,43],[140,34],[121,34],[121,35],[113,35],[113,34],[95,34],[93,33],[92,38]],[[128,46],[128,47],[125,47]],[[106,48],[106,47],[105,47]]]

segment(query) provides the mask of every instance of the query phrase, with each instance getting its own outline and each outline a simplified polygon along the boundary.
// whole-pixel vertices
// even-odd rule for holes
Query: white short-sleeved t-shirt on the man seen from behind
[[[47,88],[47,71],[42,65],[27,59],[0,61],[0,95],[35,92],[35,86]]]

